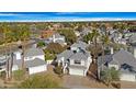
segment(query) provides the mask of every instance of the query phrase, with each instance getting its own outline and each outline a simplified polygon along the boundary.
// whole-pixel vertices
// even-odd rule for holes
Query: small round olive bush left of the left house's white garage
[[[25,77],[25,71],[24,70],[15,70],[13,71],[13,78],[15,80],[22,80]]]

